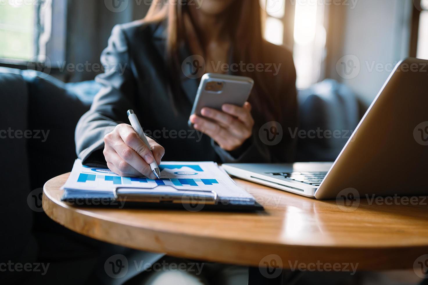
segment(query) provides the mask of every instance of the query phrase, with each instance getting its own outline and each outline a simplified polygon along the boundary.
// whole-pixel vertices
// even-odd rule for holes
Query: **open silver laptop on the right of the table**
[[[428,195],[428,60],[395,66],[335,162],[226,163],[232,176],[317,199]]]

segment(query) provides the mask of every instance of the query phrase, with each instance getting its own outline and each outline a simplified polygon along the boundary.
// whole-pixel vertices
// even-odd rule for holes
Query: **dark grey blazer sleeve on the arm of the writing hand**
[[[128,42],[120,25],[116,25],[101,54],[104,73],[95,81],[101,90],[91,108],[80,118],[75,130],[77,156],[84,165],[105,166],[104,135],[118,124],[127,122],[126,111],[133,108],[136,82],[131,71]]]

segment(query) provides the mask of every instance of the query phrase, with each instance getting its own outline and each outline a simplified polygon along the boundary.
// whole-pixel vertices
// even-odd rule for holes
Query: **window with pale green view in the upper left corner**
[[[0,62],[64,61],[66,9],[67,0],[0,0]]]

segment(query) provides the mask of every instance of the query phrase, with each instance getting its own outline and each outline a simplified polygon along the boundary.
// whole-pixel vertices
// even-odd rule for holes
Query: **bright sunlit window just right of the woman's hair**
[[[267,14],[264,35],[267,41],[285,45],[284,37],[291,30],[287,25],[294,27],[287,44],[293,49],[297,88],[308,88],[318,82],[326,43],[324,5],[303,0],[260,0],[260,3]],[[287,22],[290,17],[294,17],[294,22]]]

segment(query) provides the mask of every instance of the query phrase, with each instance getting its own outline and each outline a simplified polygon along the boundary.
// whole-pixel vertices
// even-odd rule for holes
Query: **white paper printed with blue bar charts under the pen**
[[[79,195],[111,196],[117,188],[153,189],[171,186],[168,189],[214,191],[223,201],[248,201],[255,199],[222,171],[215,162],[162,162],[159,165],[160,179],[147,177],[121,177],[107,168],[82,165],[76,159],[67,182],[62,189]],[[165,188],[165,187],[162,187]],[[102,195],[105,194],[105,195]]]

